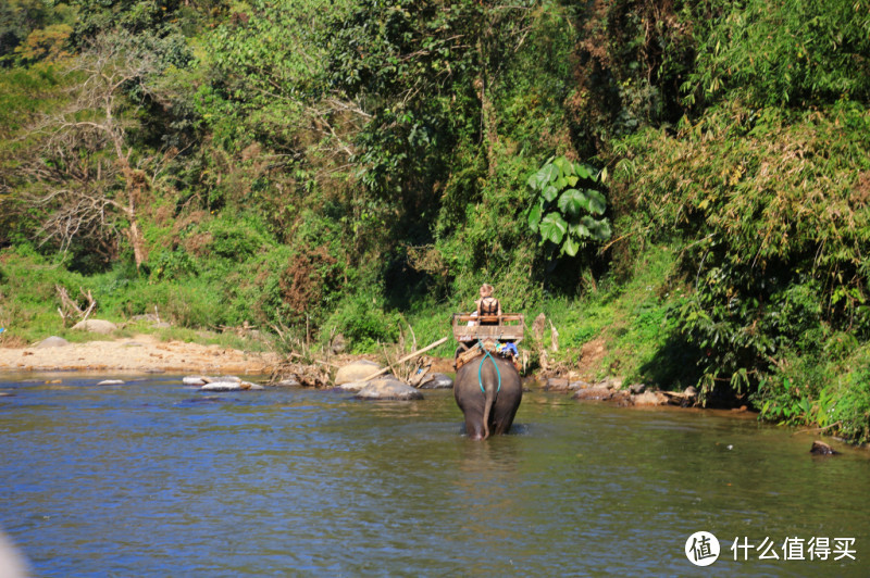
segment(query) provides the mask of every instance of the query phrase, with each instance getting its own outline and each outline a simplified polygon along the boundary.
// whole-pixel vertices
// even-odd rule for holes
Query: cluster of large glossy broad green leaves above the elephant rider
[[[605,196],[593,188],[601,174],[564,156],[550,159],[525,181],[537,193],[529,211],[529,227],[563,254],[574,256],[586,239],[606,241],[610,223],[604,215]],[[583,187],[585,185],[586,187]]]

